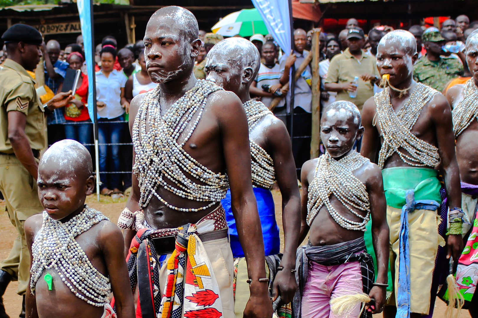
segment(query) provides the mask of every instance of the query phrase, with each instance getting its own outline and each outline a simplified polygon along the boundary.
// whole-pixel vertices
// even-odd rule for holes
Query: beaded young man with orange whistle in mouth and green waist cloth
[[[440,92],[413,81],[416,60],[412,33],[391,31],[380,40],[377,67],[380,75],[389,74],[390,81],[383,92],[364,104],[361,149],[361,154],[374,160],[381,139],[379,166],[383,169],[391,259],[395,264],[394,271],[392,268],[395,296],[389,305],[397,303],[399,313],[406,315],[409,311],[411,317],[428,314],[430,309],[437,242],[441,240],[436,215],[441,202],[435,170],[439,164],[450,212],[461,209],[451,109]],[[433,205],[430,200],[435,201]],[[401,226],[402,230],[408,227],[409,234],[399,239]],[[405,248],[407,241],[409,249]],[[447,236],[447,244],[448,256],[453,254],[457,259],[463,249],[461,236]],[[411,292],[398,293],[399,284]],[[393,306],[385,306],[384,317],[394,317],[395,311]]]

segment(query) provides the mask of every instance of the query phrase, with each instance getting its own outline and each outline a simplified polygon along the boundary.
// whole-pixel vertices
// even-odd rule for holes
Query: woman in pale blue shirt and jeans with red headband
[[[104,45],[99,52],[101,70],[96,72],[96,96],[98,107],[99,171],[120,171],[120,144],[123,133],[124,113],[128,113],[130,103],[124,97],[127,78],[113,68],[116,49]],[[113,144],[107,146],[106,144]],[[109,155],[108,155],[109,152]],[[110,160],[107,160],[109,158]],[[109,162],[108,162],[109,161]],[[121,192],[120,174],[100,174],[101,194],[119,195]]]

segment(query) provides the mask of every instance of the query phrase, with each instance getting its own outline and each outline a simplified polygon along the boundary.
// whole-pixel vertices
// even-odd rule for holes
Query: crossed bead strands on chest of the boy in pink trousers
[[[370,202],[366,186],[353,174],[355,170],[370,160],[356,151],[350,152],[340,160],[336,160],[325,153],[318,159],[315,167],[314,179],[309,185],[307,200],[307,225],[311,225],[315,215],[322,205],[325,205],[329,214],[339,226],[348,230],[365,231],[370,219]],[[357,215],[361,222],[349,220],[340,215],[330,204],[330,195],[335,195],[353,215]],[[353,208],[366,211],[363,216]]]

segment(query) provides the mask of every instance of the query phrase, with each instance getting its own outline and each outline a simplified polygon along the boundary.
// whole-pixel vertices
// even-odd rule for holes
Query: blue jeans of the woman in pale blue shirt
[[[124,129],[124,123],[109,123],[124,120],[123,115],[116,118],[98,118],[98,143],[99,143],[99,171],[115,172],[120,171],[120,145],[106,145],[121,143],[121,134]],[[110,151],[108,152],[108,148]],[[107,169],[109,164],[109,169]],[[104,188],[121,189],[120,174],[100,174]]]

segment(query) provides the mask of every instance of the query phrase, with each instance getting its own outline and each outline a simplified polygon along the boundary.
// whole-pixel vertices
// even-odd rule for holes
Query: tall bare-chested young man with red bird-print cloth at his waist
[[[194,77],[201,41],[190,11],[174,6],[156,11],[144,45],[148,73],[158,87],[131,101],[133,187],[119,220],[128,263],[142,274],[130,277],[138,282],[142,317],[234,317],[232,253],[219,202],[230,186],[251,279],[244,316],[269,318],[242,103],[232,92]]]

